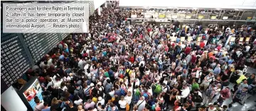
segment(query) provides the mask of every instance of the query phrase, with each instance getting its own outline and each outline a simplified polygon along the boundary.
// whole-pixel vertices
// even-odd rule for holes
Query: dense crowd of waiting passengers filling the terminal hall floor
[[[90,33],[68,36],[28,70],[43,88],[34,111],[226,111],[255,93],[255,74],[243,70],[256,64],[252,29],[132,25],[107,2],[90,16]],[[251,41],[225,45],[229,35]]]

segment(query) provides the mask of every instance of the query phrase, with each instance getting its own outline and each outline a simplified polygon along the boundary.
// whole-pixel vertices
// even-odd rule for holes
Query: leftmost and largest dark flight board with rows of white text
[[[1,93],[32,66],[17,34],[1,34]]]

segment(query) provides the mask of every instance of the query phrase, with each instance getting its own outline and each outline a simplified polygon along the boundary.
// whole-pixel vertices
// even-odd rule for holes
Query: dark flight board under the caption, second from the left
[[[35,63],[59,42],[57,33],[23,33],[23,37]]]

